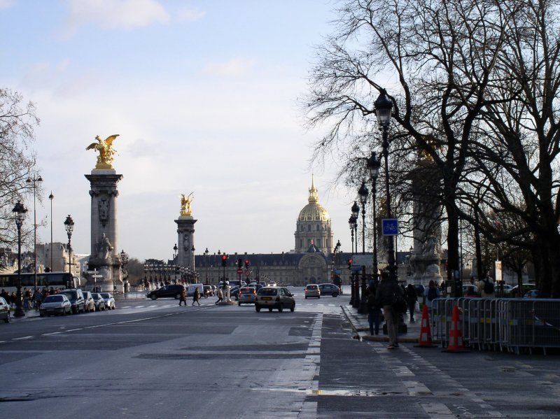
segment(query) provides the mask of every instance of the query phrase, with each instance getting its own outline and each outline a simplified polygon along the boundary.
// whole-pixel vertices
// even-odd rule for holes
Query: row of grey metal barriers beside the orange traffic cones
[[[466,347],[519,354],[560,348],[560,299],[439,298],[432,302],[433,340],[447,348],[453,307]]]

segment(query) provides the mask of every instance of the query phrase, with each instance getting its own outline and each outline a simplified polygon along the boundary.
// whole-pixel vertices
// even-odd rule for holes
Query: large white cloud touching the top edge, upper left
[[[64,33],[68,36],[90,23],[102,29],[132,30],[153,23],[167,23],[170,18],[156,0],[66,0],[66,4],[68,15]]]

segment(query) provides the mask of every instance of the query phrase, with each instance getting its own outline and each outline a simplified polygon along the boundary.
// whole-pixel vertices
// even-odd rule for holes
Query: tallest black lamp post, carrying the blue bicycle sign
[[[386,91],[381,90],[379,97],[375,100],[374,103],[375,112],[377,114],[377,125],[379,125],[379,129],[383,132],[383,143],[381,143],[381,147],[383,148],[383,158],[385,160],[385,190],[386,190],[386,199],[387,199],[387,217],[393,218],[393,214],[391,213],[391,191],[389,190],[389,167],[388,167],[388,128],[389,124],[391,124],[391,109],[393,108],[393,102],[390,101],[387,97]],[[395,265],[395,247],[394,247],[394,239],[393,236],[386,236],[387,237],[387,260],[388,260],[388,271],[389,271],[389,278],[391,280],[397,279],[397,267]]]

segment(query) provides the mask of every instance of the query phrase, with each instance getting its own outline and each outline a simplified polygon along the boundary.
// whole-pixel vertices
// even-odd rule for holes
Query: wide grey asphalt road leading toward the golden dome
[[[118,301],[0,325],[4,418],[556,418],[557,355],[352,339],[341,305]]]

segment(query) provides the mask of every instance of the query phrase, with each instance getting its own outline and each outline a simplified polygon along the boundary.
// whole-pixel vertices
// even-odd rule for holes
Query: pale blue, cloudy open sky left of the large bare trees
[[[312,166],[298,101],[314,45],[332,32],[330,0],[0,0],[0,85],[36,104],[43,178],[38,242],[90,253],[90,184],[99,135],[120,134],[118,248],[170,259],[180,196],[194,192],[195,248],[294,248],[311,173],[350,251],[355,191],[332,187],[336,158]],[[336,157],[336,156],[335,156]],[[48,195],[52,192],[52,203]],[[33,202],[27,202],[33,208]],[[119,250],[119,251],[120,251]]]

